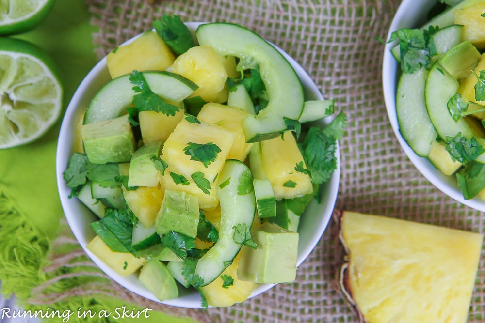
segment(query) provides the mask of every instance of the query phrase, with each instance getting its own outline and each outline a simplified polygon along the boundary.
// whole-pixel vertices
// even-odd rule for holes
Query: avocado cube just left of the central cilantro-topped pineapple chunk
[[[157,187],[159,185],[159,171],[151,158],[158,158],[162,147],[162,141],[154,141],[135,151],[129,162],[128,186]]]

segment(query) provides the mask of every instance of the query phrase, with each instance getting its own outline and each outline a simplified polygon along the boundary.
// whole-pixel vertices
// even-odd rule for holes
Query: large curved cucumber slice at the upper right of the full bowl
[[[266,108],[244,119],[247,142],[275,138],[287,126],[284,118],[298,120],[303,111],[303,87],[285,57],[256,33],[230,23],[208,23],[195,31],[201,46],[212,46],[217,53],[240,59],[240,68],[259,66],[269,95]]]

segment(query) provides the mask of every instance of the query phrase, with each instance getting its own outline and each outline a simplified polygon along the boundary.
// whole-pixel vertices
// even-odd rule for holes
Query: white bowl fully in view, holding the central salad
[[[195,31],[200,23],[187,23],[187,26],[191,31]],[[136,38],[136,37],[134,37]],[[127,41],[125,44],[131,42],[134,38]],[[288,54],[284,53],[281,49],[277,48],[291,63],[298,76],[300,77],[305,89],[305,95],[308,100],[321,100],[322,94],[318,90],[315,83]],[[87,253],[89,257],[97,264],[97,266],[103,270],[114,281],[124,286],[131,292],[135,292],[140,296],[146,297],[150,300],[160,302],[151,292],[149,292],[142,283],[138,280],[135,274],[130,276],[121,276],[114,272],[104,262],[100,261],[92,252],[86,249],[86,245],[91,239],[95,237],[95,232],[91,229],[90,223],[97,221],[96,215],[91,213],[78,199],[69,199],[71,189],[65,185],[63,179],[63,172],[67,167],[68,160],[73,153],[73,140],[76,124],[81,116],[81,113],[88,106],[89,102],[96,94],[96,92],[111,79],[106,66],[106,58],[103,58],[96,66],[89,72],[89,74],[82,80],[79,88],[74,93],[67,110],[65,112],[64,120],[61,125],[59,133],[59,141],[57,145],[56,155],[56,174],[57,185],[59,188],[59,194],[61,198],[62,207],[65,212],[67,222],[74,233],[76,239],[80,243],[81,247]],[[325,121],[328,123],[328,121]],[[299,266],[313,248],[319,242],[323,231],[331,218],[335,201],[337,200],[337,192],[339,188],[340,178],[340,155],[337,146],[337,169],[333,173],[330,180],[323,185],[321,192],[321,204],[317,204],[314,201],[308,206],[308,209],[301,217],[299,232],[300,240],[298,246],[298,258],[297,265]],[[250,297],[259,295],[262,292],[267,291],[275,284],[263,284],[259,285]],[[195,290],[181,290],[180,296],[176,299],[165,300],[161,302],[163,304],[185,307],[185,308],[200,308],[201,297]]]

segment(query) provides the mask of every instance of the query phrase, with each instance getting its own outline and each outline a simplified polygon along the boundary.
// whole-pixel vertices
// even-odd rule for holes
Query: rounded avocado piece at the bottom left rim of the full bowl
[[[178,287],[174,277],[167,266],[158,260],[147,260],[140,270],[138,279],[161,301],[178,297]]]

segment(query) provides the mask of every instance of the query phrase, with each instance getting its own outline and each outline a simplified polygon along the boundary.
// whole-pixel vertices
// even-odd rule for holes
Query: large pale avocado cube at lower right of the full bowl
[[[272,223],[251,231],[258,247],[243,246],[238,278],[255,283],[287,283],[296,278],[298,233]]]

